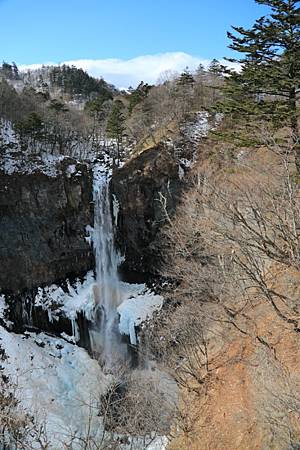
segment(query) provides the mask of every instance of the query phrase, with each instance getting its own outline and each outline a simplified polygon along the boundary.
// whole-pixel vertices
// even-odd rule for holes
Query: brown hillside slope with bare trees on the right
[[[157,325],[164,342],[172,330],[165,364],[172,371],[177,361],[175,376],[182,386],[168,449],[298,448],[299,188],[292,159],[266,148],[240,151],[233,158],[213,155],[199,163],[195,178],[198,193],[187,194],[167,231],[169,241],[175,237],[176,249],[166,273],[180,280],[169,294],[181,306]],[[288,183],[293,185],[291,191],[287,188],[292,206],[282,194]],[[249,219],[249,229],[244,219]],[[205,252],[205,264],[197,251]],[[182,325],[185,330],[201,329],[204,335],[206,362],[199,346],[195,363],[195,347],[186,337],[180,353],[180,326],[175,325],[183,323],[180,309],[182,316],[190,316],[188,325]],[[198,370],[198,383],[186,361],[189,369]]]

